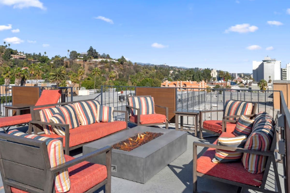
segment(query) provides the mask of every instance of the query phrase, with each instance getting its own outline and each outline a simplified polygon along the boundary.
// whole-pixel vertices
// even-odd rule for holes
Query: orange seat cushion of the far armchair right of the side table
[[[235,123],[226,123],[226,132],[231,133],[234,131]],[[221,120],[205,120],[202,122],[202,127],[211,130],[215,133],[222,133],[222,121]]]

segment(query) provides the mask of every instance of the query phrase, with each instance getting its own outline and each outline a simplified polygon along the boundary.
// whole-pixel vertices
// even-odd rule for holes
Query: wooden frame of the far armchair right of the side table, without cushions
[[[246,101],[245,101],[246,102]],[[252,109],[252,113],[250,115],[245,115],[247,117],[254,117],[255,116],[255,112],[256,112],[256,109],[257,109],[257,105],[258,103],[253,103],[253,109]],[[202,131],[206,131],[207,133],[211,133],[213,135],[211,136],[207,136],[207,137],[212,137],[212,136],[219,136],[220,134],[219,133],[216,133],[214,131],[211,131],[209,129],[206,129],[206,128],[203,128],[202,127],[202,124],[203,124],[203,120],[202,120],[202,114],[203,113],[218,113],[218,112],[223,112],[223,118],[222,120],[220,120],[222,122],[222,132],[226,131],[226,124],[223,124],[223,122],[231,122],[231,123],[236,123],[237,121],[236,120],[229,120],[229,118],[237,118],[237,117],[240,117],[241,115],[231,115],[231,116],[224,116],[224,109],[219,109],[219,110],[207,110],[207,111],[200,111],[200,114],[199,114],[199,137],[200,139],[203,139],[203,136],[202,136]]]

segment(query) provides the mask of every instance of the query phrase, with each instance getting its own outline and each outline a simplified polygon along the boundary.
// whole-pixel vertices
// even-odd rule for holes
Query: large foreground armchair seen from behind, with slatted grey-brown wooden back
[[[5,192],[94,192],[104,185],[106,192],[111,191],[110,146],[74,158],[63,154],[59,139],[12,131],[10,135],[0,133],[0,171]],[[86,161],[103,153],[106,166]],[[52,167],[52,162],[57,162],[56,166]]]

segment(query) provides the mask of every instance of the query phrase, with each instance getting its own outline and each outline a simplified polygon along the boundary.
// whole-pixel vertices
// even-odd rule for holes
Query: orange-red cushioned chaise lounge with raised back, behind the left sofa
[[[45,104],[55,104],[58,102],[61,91],[59,89],[43,90],[35,106]],[[7,133],[11,126],[25,126],[31,121],[31,114],[15,115],[10,117],[0,117],[0,128]]]

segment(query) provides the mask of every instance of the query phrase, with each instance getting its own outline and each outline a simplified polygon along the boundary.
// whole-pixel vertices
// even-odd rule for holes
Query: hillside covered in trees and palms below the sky
[[[101,85],[160,87],[164,80],[208,82],[212,78],[210,69],[139,65],[127,61],[124,56],[113,59],[109,54],[99,54],[92,46],[87,54],[75,50],[67,52],[67,56],[48,58],[46,52],[18,52],[4,42],[0,46],[0,85],[24,85],[26,80],[36,79],[66,86],[66,80],[71,80],[86,89],[100,89]],[[12,55],[25,58],[12,58]]]

